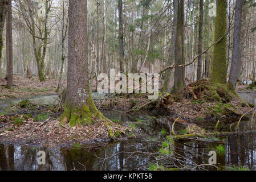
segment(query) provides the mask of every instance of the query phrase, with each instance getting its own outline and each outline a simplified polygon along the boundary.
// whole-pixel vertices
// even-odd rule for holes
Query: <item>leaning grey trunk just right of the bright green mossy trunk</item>
[[[242,16],[242,0],[235,2],[235,22],[234,22],[234,35],[233,35],[233,53],[231,60],[231,69],[229,75],[229,82],[235,89],[237,78],[239,74],[240,64],[240,34],[241,34],[241,16]]]

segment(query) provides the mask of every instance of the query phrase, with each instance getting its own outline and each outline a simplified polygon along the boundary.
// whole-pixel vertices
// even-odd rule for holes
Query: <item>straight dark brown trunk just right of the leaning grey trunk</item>
[[[184,64],[184,0],[178,1],[178,19],[177,19],[177,34],[175,43],[175,64]],[[175,93],[178,90],[184,88],[184,68],[175,68],[174,71],[174,85],[172,92]]]

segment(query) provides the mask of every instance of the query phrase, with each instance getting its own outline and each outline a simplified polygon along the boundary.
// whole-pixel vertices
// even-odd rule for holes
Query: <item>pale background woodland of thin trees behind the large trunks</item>
[[[6,75],[6,21],[1,1],[0,75]],[[40,17],[40,1],[13,1],[13,70],[14,75],[31,77],[39,72],[46,78],[58,78],[67,74],[67,11],[66,0],[47,0],[47,16]],[[174,62],[172,58],[173,2],[172,1],[88,1],[88,61],[90,72],[109,73],[109,69],[120,71],[123,62],[125,72],[158,73]],[[201,1],[202,2],[202,1]],[[190,63],[214,43],[213,1],[184,1],[184,60]],[[212,3],[212,4],[210,4]],[[239,80],[255,80],[255,9],[253,1],[244,1],[241,28],[241,64]],[[120,56],[119,9],[122,7],[123,55]],[[233,47],[235,2],[227,1],[226,60],[227,75]],[[212,14],[211,14],[212,13]],[[201,28],[200,28],[200,22]],[[201,32],[200,32],[201,30]],[[200,34],[199,34],[200,33]],[[202,39],[198,39],[201,36]],[[201,46],[200,46],[201,45]],[[122,61],[123,59],[123,61]],[[170,62],[168,62],[170,61]],[[209,77],[212,71],[213,47],[202,55],[200,75]],[[39,68],[39,65],[42,67]],[[63,68],[63,69],[62,69]],[[185,67],[185,77],[195,81],[198,61]],[[42,81],[43,78],[40,78]],[[173,78],[173,76],[172,76]],[[200,77],[198,77],[200,78]]]

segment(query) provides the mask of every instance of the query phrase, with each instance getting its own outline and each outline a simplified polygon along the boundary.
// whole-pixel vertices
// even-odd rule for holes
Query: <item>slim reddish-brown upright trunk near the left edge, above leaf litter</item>
[[[7,88],[11,88],[13,86],[13,27],[12,20],[13,17],[11,15],[11,0],[8,0],[8,21],[6,23],[6,36],[8,36],[8,75],[7,75]]]

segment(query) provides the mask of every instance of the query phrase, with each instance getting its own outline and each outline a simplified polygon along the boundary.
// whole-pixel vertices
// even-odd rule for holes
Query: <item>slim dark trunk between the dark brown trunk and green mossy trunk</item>
[[[204,0],[200,0],[200,20],[199,20],[199,34],[198,34],[198,55],[202,52],[202,24],[204,19]],[[197,64],[197,80],[202,78],[202,55],[198,56]]]

